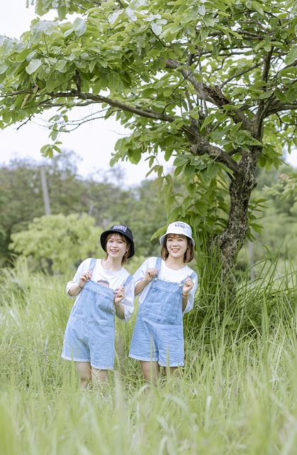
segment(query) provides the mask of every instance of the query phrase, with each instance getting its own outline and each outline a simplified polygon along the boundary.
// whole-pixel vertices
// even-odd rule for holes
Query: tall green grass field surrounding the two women
[[[207,306],[198,296],[184,321],[186,366],[157,387],[128,358],[135,312],[116,320],[109,384],[79,390],[60,357],[66,282],[25,266],[2,273],[0,454],[296,453],[295,271],[240,283],[223,314],[220,289]]]

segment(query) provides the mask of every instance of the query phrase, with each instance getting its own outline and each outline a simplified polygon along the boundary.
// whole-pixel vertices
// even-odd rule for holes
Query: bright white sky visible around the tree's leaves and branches
[[[51,16],[52,17],[52,16]],[[35,18],[34,7],[26,8],[26,0],[4,1],[1,4],[0,15],[0,35],[11,38],[19,38],[23,31],[30,28],[30,21]],[[47,17],[43,17],[47,18]],[[82,109],[85,109],[84,111]],[[88,108],[78,109],[74,118],[84,117],[89,114]],[[50,117],[50,115],[48,116]],[[44,120],[44,119],[43,119]],[[42,125],[42,119],[37,122],[26,124],[21,129],[10,127],[0,130],[0,163],[8,163],[13,157],[29,157],[37,161],[45,160],[40,155],[40,148],[45,144],[50,144],[48,138],[49,131]],[[70,134],[62,134],[62,148],[73,150],[82,158],[79,163],[79,173],[87,176],[98,169],[108,169],[114,145],[119,137],[125,134],[125,129],[114,119],[99,119],[95,122],[86,122],[83,126],[74,130]],[[161,158],[161,157],[159,157]],[[164,164],[165,170],[169,170],[171,163],[159,160]],[[288,156],[288,163],[297,166],[297,152]],[[121,168],[125,173],[125,184],[137,184],[145,178],[149,167],[145,160],[138,165],[128,162],[120,162]],[[150,175],[152,178],[154,174]]]

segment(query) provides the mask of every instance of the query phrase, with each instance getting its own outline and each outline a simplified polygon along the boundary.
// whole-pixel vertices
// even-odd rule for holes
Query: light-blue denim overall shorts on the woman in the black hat
[[[96,259],[91,259],[89,271]],[[123,286],[133,277],[128,275]],[[113,370],[115,358],[114,289],[92,280],[86,282],[67,322],[62,358],[89,362],[98,370]]]

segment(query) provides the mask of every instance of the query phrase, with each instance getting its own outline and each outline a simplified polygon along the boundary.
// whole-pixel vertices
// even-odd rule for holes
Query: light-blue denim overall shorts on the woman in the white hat
[[[157,258],[155,267],[161,267]],[[194,279],[196,272],[190,276]],[[180,283],[166,282],[156,275],[136,318],[129,356],[137,360],[158,362],[176,367],[184,365],[184,330],[182,289]]]

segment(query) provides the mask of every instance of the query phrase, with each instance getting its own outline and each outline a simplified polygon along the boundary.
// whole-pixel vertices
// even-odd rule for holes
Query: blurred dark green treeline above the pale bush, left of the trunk
[[[150,239],[167,220],[164,205],[150,188],[152,181],[147,179],[135,188],[125,188],[117,178],[117,168],[108,175],[95,171],[94,175],[79,178],[77,159],[73,151],[62,150],[43,165],[52,215],[85,213],[103,229],[114,223],[127,224],[135,235],[137,255],[158,254],[159,242]],[[0,167],[0,181],[0,257],[2,264],[9,264],[11,234],[27,230],[33,218],[45,213],[40,164],[14,159]]]

